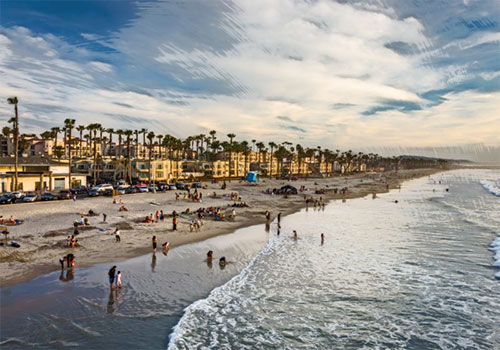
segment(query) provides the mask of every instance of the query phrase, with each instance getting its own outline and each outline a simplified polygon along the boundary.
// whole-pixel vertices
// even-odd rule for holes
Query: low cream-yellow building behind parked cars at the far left
[[[18,188],[23,191],[61,190],[69,188],[68,163],[57,162],[42,157],[20,157],[18,166]],[[15,191],[14,157],[0,158],[0,190]],[[87,177],[71,174],[72,187],[85,186]]]

